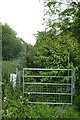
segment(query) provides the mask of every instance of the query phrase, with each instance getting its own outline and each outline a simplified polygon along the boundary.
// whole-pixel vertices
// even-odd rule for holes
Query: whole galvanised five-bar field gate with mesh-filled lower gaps
[[[53,73],[41,75],[41,71]],[[54,71],[58,74],[63,71],[65,75],[55,75]],[[37,72],[39,75],[36,75]],[[23,95],[26,94],[29,103],[33,104],[72,105],[74,75],[72,69],[23,68]]]

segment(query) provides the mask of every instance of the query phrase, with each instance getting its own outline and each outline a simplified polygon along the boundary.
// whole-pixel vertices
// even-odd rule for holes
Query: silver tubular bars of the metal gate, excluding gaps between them
[[[68,76],[31,76],[31,75],[25,75],[25,71],[68,71]],[[69,75],[69,72],[71,71],[71,75]],[[31,94],[37,94],[37,95],[39,95],[39,94],[43,94],[43,95],[45,95],[45,94],[48,94],[48,95],[51,95],[51,94],[53,94],[53,95],[69,95],[69,96],[71,96],[70,98],[71,98],[71,102],[67,102],[67,103],[64,103],[64,102],[30,102],[29,101],[29,103],[33,103],[33,104],[67,104],[67,105],[72,105],[72,99],[73,99],[73,89],[74,89],[74,81],[73,81],[73,79],[74,79],[74,75],[75,75],[75,71],[74,70],[72,70],[72,69],[46,69],[46,68],[23,68],[23,95],[24,94],[28,94],[28,95],[31,95]],[[50,78],[50,77],[52,77],[52,78],[64,78],[64,77],[67,77],[67,78],[71,78],[71,83],[41,83],[41,82],[25,82],[25,78],[42,78],[42,77],[46,77],[46,78]],[[63,86],[71,86],[71,93],[47,93],[47,92],[29,92],[29,91],[25,91],[25,89],[24,89],[24,87],[25,87],[25,85],[45,85],[45,84],[47,84],[47,85],[63,85]]]

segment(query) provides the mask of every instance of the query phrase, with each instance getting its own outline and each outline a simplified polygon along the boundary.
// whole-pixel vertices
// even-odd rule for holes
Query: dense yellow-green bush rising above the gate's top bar
[[[36,64],[44,68],[68,68],[77,67],[79,63],[78,43],[70,35],[58,35],[50,37],[49,32],[39,32],[34,46],[36,51]],[[53,38],[53,39],[52,39]],[[70,65],[68,66],[68,53],[70,53]]]

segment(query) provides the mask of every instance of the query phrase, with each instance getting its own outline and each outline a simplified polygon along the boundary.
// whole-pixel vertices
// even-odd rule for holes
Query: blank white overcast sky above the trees
[[[10,25],[18,37],[34,45],[33,34],[45,28],[43,0],[0,0],[0,4],[0,22]]]

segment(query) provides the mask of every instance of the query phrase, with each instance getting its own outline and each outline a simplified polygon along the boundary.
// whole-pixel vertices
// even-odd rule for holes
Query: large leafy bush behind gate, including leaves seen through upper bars
[[[71,37],[70,34],[52,35],[50,31],[38,32],[36,36],[37,42],[34,46],[36,51],[35,62],[39,68],[70,68],[75,70],[75,95],[80,94],[80,56],[79,44],[77,39]],[[69,64],[68,64],[69,53]],[[43,72],[40,75],[53,75],[56,72]],[[61,75],[64,73],[61,73]],[[42,78],[40,82],[51,82],[51,79]],[[63,81],[62,81],[63,82]]]

